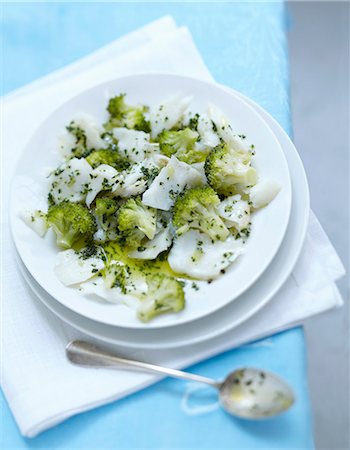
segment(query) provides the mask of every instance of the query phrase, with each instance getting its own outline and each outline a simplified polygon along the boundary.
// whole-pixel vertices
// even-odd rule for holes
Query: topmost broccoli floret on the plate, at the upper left
[[[125,103],[125,95],[120,94],[109,100],[107,111],[110,120],[104,125],[106,130],[116,127],[125,127],[130,130],[150,132],[150,123],[145,119],[145,106],[130,106]]]

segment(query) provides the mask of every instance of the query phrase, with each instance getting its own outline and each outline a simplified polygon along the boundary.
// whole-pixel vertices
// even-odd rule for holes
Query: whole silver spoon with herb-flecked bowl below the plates
[[[238,369],[223,381],[217,381],[181,370],[120,358],[85,341],[71,341],[66,347],[66,355],[72,363],[82,366],[118,369],[120,365],[132,366],[147,372],[205,383],[219,390],[220,403],[228,413],[241,418],[276,416],[294,403],[294,394],[288,384],[276,375],[260,369]]]

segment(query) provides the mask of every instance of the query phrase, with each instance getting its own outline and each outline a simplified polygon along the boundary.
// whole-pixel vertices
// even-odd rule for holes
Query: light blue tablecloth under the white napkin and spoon
[[[283,3],[8,3],[3,9],[2,93],[172,14],[179,25],[189,27],[216,80],[253,98],[291,132]],[[281,374],[296,391],[296,405],[278,419],[259,423],[234,420],[215,408],[188,415],[181,403],[183,382],[165,380],[30,440],[20,436],[1,397],[1,447],[312,449],[302,329],[232,350],[190,370],[222,377],[236,364]]]

